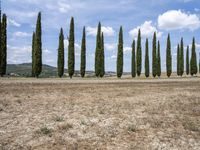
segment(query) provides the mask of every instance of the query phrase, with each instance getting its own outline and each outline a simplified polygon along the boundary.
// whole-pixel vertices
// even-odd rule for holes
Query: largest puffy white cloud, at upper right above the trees
[[[181,10],[169,10],[158,17],[158,27],[165,30],[189,29],[194,31],[200,27],[200,19],[196,14]]]

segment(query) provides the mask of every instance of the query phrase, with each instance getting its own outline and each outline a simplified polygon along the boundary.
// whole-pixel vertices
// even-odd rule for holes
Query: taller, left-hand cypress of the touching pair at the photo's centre
[[[102,49],[101,40],[101,23],[98,24],[97,38],[96,38],[96,51],[95,51],[95,75],[100,76],[100,53]]]

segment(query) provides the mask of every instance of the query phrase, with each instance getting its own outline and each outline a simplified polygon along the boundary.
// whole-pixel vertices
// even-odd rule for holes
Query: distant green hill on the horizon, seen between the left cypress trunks
[[[19,77],[31,77],[31,63],[23,64],[8,64],[7,75],[8,76],[19,76]],[[67,76],[67,69],[65,69],[65,76]],[[105,76],[114,76],[115,72],[106,72]],[[80,76],[79,71],[75,71],[75,76]],[[40,77],[57,77],[57,68],[49,65],[42,66],[42,73]],[[86,71],[86,77],[94,77],[94,71]]]

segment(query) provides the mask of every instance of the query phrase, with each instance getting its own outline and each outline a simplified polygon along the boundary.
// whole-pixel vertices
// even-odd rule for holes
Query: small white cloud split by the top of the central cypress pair
[[[115,30],[112,27],[101,27],[102,32],[105,36],[113,36],[115,34]],[[97,35],[97,27],[87,27],[86,28],[87,35],[96,36]]]

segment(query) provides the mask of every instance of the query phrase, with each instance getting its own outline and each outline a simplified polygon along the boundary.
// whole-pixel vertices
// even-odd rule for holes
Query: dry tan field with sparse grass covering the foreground
[[[200,79],[0,79],[1,150],[200,150]]]

